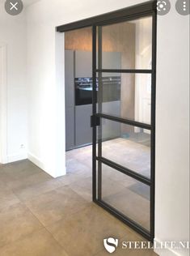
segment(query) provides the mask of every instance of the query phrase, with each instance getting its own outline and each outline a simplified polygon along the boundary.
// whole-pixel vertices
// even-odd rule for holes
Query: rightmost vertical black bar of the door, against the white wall
[[[157,13],[152,21],[152,89],[151,89],[151,173],[150,173],[150,238],[154,241],[154,207],[155,207],[155,107],[156,107],[156,41]]]

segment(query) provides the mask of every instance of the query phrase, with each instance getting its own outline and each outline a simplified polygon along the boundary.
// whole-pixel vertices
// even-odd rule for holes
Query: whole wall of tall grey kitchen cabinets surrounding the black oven
[[[103,68],[120,69],[120,53],[103,53]],[[103,76],[119,74],[103,73]],[[75,106],[74,78],[92,77],[92,53],[65,50],[65,147],[66,150],[81,147],[92,142],[91,112],[92,105]],[[104,102],[103,109],[110,114],[119,115],[120,101]],[[103,138],[120,136],[120,126],[103,120]]]

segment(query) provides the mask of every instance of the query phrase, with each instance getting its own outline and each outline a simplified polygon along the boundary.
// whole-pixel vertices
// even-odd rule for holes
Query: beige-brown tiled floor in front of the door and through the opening
[[[100,256],[108,255],[103,238],[143,239],[91,203],[91,147],[69,151],[67,169],[53,179],[28,160],[0,166],[1,256]],[[114,254],[156,255],[119,248]]]

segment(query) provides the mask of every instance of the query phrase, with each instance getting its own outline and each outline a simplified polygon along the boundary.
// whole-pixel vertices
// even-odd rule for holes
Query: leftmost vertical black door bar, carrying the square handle
[[[96,26],[92,27],[92,114],[96,113]],[[92,199],[96,200],[96,126],[92,128]]]

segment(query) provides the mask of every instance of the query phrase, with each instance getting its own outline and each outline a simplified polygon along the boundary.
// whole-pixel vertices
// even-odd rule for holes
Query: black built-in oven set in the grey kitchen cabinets
[[[120,76],[102,77],[103,101],[120,100]],[[75,78],[75,105],[92,104],[92,78]],[[96,79],[96,92],[99,88],[99,79]]]

